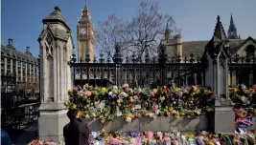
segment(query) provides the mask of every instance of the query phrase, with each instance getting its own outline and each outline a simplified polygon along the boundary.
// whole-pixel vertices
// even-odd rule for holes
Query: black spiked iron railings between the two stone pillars
[[[158,58],[145,56],[145,62],[138,61],[135,52],[131,55],[131,61],[123,62],[120,47],[116,45],[113,62],[110,56],[106,56],[104,61],[103,54],[100,55],[99,62],[76,63],[72,59],[74,67],[75,85],[107,86],[115,84],[121,86],[128,83],[131,87],[153,87],[176,83],[183,85],[204,85],[204,63],[200,57],[190,55],[190,58],[182,59],[180,55],[168,58],[165,48],[162,47]],[[89,58],[89,56],[87,56]],[[146,59],[147,58],[147,59]]]

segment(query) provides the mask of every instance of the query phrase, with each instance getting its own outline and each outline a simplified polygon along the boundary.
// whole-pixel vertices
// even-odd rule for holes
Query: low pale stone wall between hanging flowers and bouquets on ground
[[[100,122],[99,118],[86,119],[88,127],[92,132],[105,129],[106,132],[122,131],[122,132],[190,132],[190,131],[205,131],[208,129],[208,120],[205,115],[197,118],[189,118],[181,116],[176,119],[175,116],[158,117],[155,120],[149,117],[142,117],[133,119],[128,124],[123,117],[115,118],[112,121],[106,121],[104,124]]]

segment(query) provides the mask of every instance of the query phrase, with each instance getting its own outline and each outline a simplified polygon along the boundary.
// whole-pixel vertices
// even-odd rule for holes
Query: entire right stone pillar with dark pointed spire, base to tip
[[[205,47],[204,58],[207,69],[205,85],[212,88],[216,95],[215,113],[209,115],[209,127],[213,132],[234,132],[235,114],[228,99],[228,65],[229,42],[218,16],[214,35]]]

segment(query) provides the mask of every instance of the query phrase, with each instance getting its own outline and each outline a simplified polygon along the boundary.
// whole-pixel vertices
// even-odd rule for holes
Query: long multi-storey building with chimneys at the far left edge
[[[27,47],[26,52],[19,52],[9,39],[7,46],[1,45],[1,75],[15,75],[18,84],[38,84],[38,60]]]

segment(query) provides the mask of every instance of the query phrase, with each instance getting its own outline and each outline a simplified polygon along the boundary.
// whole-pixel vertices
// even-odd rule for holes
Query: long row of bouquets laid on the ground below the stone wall
[[[255,133],[246,133],[239,130],[233,134],[210,134],[200,132],[198,134],[188,133],[180,134],[179,132],[162,133],[162,132],[132,132],[126,135],[121,132],[106,133],[105,130],[100,133],[92,133],[94,145],[241,145],[255,144]]]

